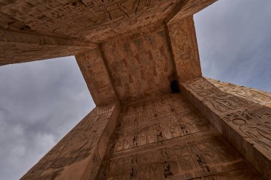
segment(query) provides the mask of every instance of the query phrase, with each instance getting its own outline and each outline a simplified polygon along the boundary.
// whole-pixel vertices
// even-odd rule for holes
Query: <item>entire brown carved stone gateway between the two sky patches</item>
[[[1,1],[0,65],[76,55],[98,106],[22,179],[271,178],[270,93],[198,78],[213,2]]]

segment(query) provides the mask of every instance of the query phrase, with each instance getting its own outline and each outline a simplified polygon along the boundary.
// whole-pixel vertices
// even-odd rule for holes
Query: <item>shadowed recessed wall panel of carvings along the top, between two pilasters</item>
[[[0,11],[6,16],[3,23],[9,28],[101,41],[162,22],[179,2],[24,0],[6,1],[0,4]]]

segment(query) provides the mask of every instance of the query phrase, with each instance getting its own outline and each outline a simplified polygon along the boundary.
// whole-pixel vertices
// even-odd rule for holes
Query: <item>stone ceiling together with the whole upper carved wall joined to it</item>
[[[216,0],[0,0],[0,65],[76,55],[96,105],[201,75],[193,14]]]

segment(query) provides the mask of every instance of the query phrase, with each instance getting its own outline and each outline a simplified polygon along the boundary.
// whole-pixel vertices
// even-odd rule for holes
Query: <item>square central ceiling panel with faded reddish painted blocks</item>
[[[170,92],[173,63],[163,26],[111,39],[102,48],[121,101]]]

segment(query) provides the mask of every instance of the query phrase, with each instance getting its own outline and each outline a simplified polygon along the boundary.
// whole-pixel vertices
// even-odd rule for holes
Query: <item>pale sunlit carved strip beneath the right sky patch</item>
[[[237,95],[239,97],[243,97],[247,100],[252,100],[253,102],[259,103],[260,105],[265,105],[267,107],[271,107],[271,93],[265,92],[262,90],[256,90],[253,88],[247,88],[240,85],[234,85],[232,83],[224,83],[220,80],[215,80],[211,78],[207,78],[210,83],[218,87],[220,90],[224,92],[230,93],[232,95]]]

